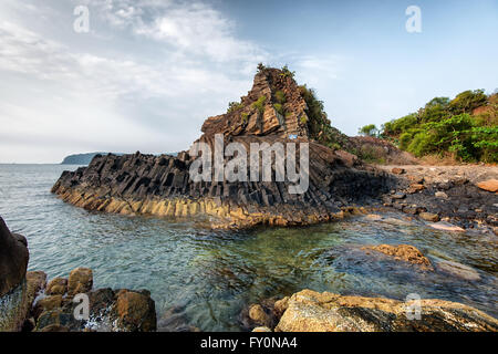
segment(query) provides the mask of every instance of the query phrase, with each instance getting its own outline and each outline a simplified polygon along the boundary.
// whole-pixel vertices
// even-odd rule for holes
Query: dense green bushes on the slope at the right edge
[[[417,157],[452,154],[461,162],[498,163],[497,94],[475,90],[454,100],[435,97],[417,113],[384,124],[381,136]]]

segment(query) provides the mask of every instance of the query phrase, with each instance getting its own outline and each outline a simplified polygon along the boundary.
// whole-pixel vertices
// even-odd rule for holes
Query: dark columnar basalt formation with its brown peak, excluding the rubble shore
[[[263,69],[239,104],[204,123],[204,135],[196,142],[206,143],[212,155],[217,135],[225,146],[240,143],[247,160],[253,143],[267,143],[262,146],[266,152],[276,143],[309,143],[309,188],[304,194],[289,192],[289,187],[295,185],[289,178],[276,181],[274,164],[271,181],[253,181],[248,170],[242,173],[248,181],[194,181],[189,169],[197,156],[187,152],[177,157],[139,153],[96,156],[89,167],[63,173],[52,191],[89,210],[175,217],[207,215],[216,217],[211,218],[215,226],[247,227],[328,221],[340,218],[341,208],[388,190],[393,180],[387,174],[363,166],[354,155],[311,139],[310,119],[302,91],[292,76]],[[299,146],[295,150],[299,162]],[[302,168],[300,163],[297,165],[299,173]],[[259,166],[261,173],[261,160]]]

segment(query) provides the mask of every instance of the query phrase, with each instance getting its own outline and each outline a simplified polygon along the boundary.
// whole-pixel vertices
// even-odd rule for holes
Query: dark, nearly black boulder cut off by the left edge
[[[0,217],[0,298],[14,290],[25,278],[29,256],[27,239],[11,233]]]

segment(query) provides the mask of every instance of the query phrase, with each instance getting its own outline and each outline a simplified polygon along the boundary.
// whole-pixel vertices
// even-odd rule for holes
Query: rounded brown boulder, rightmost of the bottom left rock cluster
[[[144,294],[123,290],[117,295],[120,325],[131,332],[152,332],[156,330],[154,301]]]

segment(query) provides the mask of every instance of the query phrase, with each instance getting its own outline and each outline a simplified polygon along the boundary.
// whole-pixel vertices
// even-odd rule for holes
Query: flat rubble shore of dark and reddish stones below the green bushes
[[[380,166],[387,171],[405,170],[397,186],[383,197],[384,206],[418,215],[445,231],[498,227],[497,166]],[[481,188],[486,187],[486,188]],[[442,220],[442,222],[437,222]],[[450,223],[448,223],[450,222]]]

